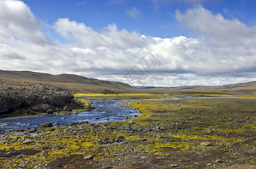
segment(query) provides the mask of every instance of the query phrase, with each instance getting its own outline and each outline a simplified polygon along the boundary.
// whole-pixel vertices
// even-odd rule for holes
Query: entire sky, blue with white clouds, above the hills
[[[253,0],[0,0],[0,70],[132,86],[256,81]]]

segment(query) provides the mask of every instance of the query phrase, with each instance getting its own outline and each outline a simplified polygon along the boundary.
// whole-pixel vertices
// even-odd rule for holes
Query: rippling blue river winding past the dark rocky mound
[[[156,100],[178,100],[178,99],[190,99],[191,97],[181,97],[175,99],[156,99]],[[148,99],[155,100],[155,99]],[[116,122],[125,121],[125,117],[134,118],[135,115],[140,115],[138,110],[130,110],[122,106],[117,105],[118,102],[134,101],[134,100],[92,100],[92,109],[88,112],[82,112],[78,114],[65,114],[65,115],[44,115],[36,117],[22,117],[14,119],[0,119],[0,129],[9,131],[17,129],[25,129],[27,127],[39,127],[41,123],[58,122],[61,126],[69,126],[72,122],[88,121],[89,123],[101,123],[101,122]]]

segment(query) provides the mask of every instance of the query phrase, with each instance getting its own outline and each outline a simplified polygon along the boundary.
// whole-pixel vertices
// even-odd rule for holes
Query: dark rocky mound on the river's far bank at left
[[[6,114],[22,108],[28,114],[48,113],[67,106],[69,110],[82,108],[74,96],[67,91],[57,88],[35,84],[35,86],[0,88],[0,114]],[[67,111],[69,111],[67,110]]]

